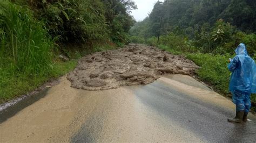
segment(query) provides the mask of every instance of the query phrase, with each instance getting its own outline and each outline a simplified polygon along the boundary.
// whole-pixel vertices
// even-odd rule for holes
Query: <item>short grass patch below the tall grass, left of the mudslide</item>
[[[29,91],[35,90],[51,78],[57,78],[68,73],[76,67],[76,64],[77,60],[71,60],[68,62],[55,61],[53,62],[53,68],[51,71],[36,75],[24,73],[4,75],[3,71],[0,73],[0,77],[4,77],[0,83],[0,104],[8,102],[21,95],[28,94]]]

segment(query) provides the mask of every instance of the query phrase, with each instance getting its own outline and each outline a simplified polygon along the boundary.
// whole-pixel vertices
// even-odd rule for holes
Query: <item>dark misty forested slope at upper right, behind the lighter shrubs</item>
[[[147,33],[157,36],[160,17],[163,17],[161,33],[169,33],[177,27],[185,32],[205,24],[213,26],[223,19],[239,30],[256,31],[256,1],[254,0],[166,0],[154,5],[149,18]],[[145,22],[140,22],[144,24]],[[138,25],[138,24],[137,24]],[[144,24],[145,25],[145,24]]]

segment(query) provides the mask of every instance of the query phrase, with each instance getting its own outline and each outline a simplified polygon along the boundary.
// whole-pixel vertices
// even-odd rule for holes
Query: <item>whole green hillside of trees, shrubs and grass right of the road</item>
[[[243,42],[256,59],[255,8],[256,1],[246,0],[157,2],[149,17],[131,28],[131,41],[185,55],[201,67],[200,80],[230,96],[227,64],[234,49]],[[256,95],[252,102],[255,109]]]

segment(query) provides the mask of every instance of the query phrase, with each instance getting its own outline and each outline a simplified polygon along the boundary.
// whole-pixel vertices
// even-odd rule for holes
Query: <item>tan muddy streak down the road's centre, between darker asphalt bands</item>
[[[138,87],[140,88],[140,87]],[[135,87],[132,87],[136,90]],[[102,106],[72,135],[71,142],[203,141],[169,118],[147,108],[133,90],[107,94]],[[121,91],[121,92],[120,92]]]

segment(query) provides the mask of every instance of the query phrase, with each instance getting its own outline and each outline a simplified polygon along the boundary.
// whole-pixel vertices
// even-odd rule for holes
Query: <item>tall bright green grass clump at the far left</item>
[[[41,73],[51,68],[51,38],[42,22],[37,22],[28,9],[11,4],[0,3],[1,25],[1,67],[9,68],[8,74]],[[38,60],[40,59],[40,60]]]

